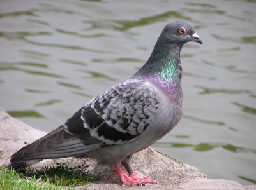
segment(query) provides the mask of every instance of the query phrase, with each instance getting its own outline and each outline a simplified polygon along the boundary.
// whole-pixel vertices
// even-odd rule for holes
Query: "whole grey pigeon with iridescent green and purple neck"
[[[43,159],[73,156],[112,166],[115,172],[109,178],[118,175],[126,186],[157,184],[135,174],[132,157],[161,139],[181,119],[180,52],[190,41],[202,44],[188,22],[167,24],[139,71],[93,98],[56,130],[17,151],[7,168],[19,171]]]

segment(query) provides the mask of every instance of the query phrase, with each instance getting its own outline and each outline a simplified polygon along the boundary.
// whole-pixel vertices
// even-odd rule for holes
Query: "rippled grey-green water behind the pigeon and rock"
[[[255,1],[2,0],[0,106],[50,132],[130,78],[172,20],[204,45],[181,51],[183,118],[153,147],[213,179],[255,184]]]

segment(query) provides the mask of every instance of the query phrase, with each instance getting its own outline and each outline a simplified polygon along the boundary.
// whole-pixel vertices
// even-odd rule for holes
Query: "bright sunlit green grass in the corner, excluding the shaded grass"
[[[7,170],[0,167],[0,190],[61,190],[63,187],[56,187],[49,182],[36,180],[34,177],[24,178],[22,173]]]

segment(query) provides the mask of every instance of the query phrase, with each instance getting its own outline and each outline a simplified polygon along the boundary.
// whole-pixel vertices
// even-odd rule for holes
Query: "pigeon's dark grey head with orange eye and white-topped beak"
[[[195,41],[202,44],[202,40],[195,33],[192,26],[185,21],[170,22],[165,26],[160,37],[167,43],[177,44],[181,47],[188,41]]]

